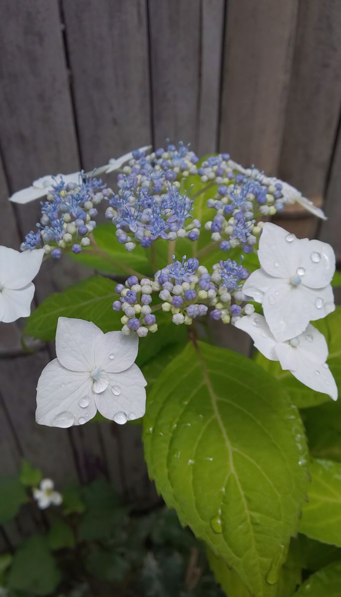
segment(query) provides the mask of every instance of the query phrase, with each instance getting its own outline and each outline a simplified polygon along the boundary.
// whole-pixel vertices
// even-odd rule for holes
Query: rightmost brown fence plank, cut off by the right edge
[[[324,191],[341,100],[339,0],[301,0],[279,174],[312,200]]]

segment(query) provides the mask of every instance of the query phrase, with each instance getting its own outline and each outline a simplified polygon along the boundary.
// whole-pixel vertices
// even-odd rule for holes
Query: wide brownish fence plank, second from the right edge
[[[229,0],[220,150],[276,174],[290,81],[297,0]]]

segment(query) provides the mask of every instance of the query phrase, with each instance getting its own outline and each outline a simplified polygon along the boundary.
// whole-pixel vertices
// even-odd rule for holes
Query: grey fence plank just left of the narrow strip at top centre
[[[201,3],[149,0],[153,131],[156,146],[182,139],[196,149]]]

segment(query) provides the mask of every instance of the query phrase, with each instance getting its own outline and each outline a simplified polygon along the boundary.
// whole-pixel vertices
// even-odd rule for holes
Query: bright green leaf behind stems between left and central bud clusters
[[[112,275],[126,275],[127,268],[146,276],[152,274],[149,250],[137,245],[129,253],[124,245],[119,244],[115,232],[116,227],[112,223],[99,224],[93,232],[97,248],[90,245],[83,248],[82,253],[75,255],[70,252],[69,256],[82,265]]]

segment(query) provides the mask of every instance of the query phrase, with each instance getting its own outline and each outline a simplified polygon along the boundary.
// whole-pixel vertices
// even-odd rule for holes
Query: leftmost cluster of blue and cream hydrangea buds
[[[62,177],[56,179],[46,201],[41,202],[38,230],[26,235],[21,250],[44,248],[46,254],[57,259],[66,248],[81,253],[82,247],[90,245],[88,235],[96,227],[97,205],[112,195],[113,191],[102,180],[83,172],[79,183],[65,183]]]

